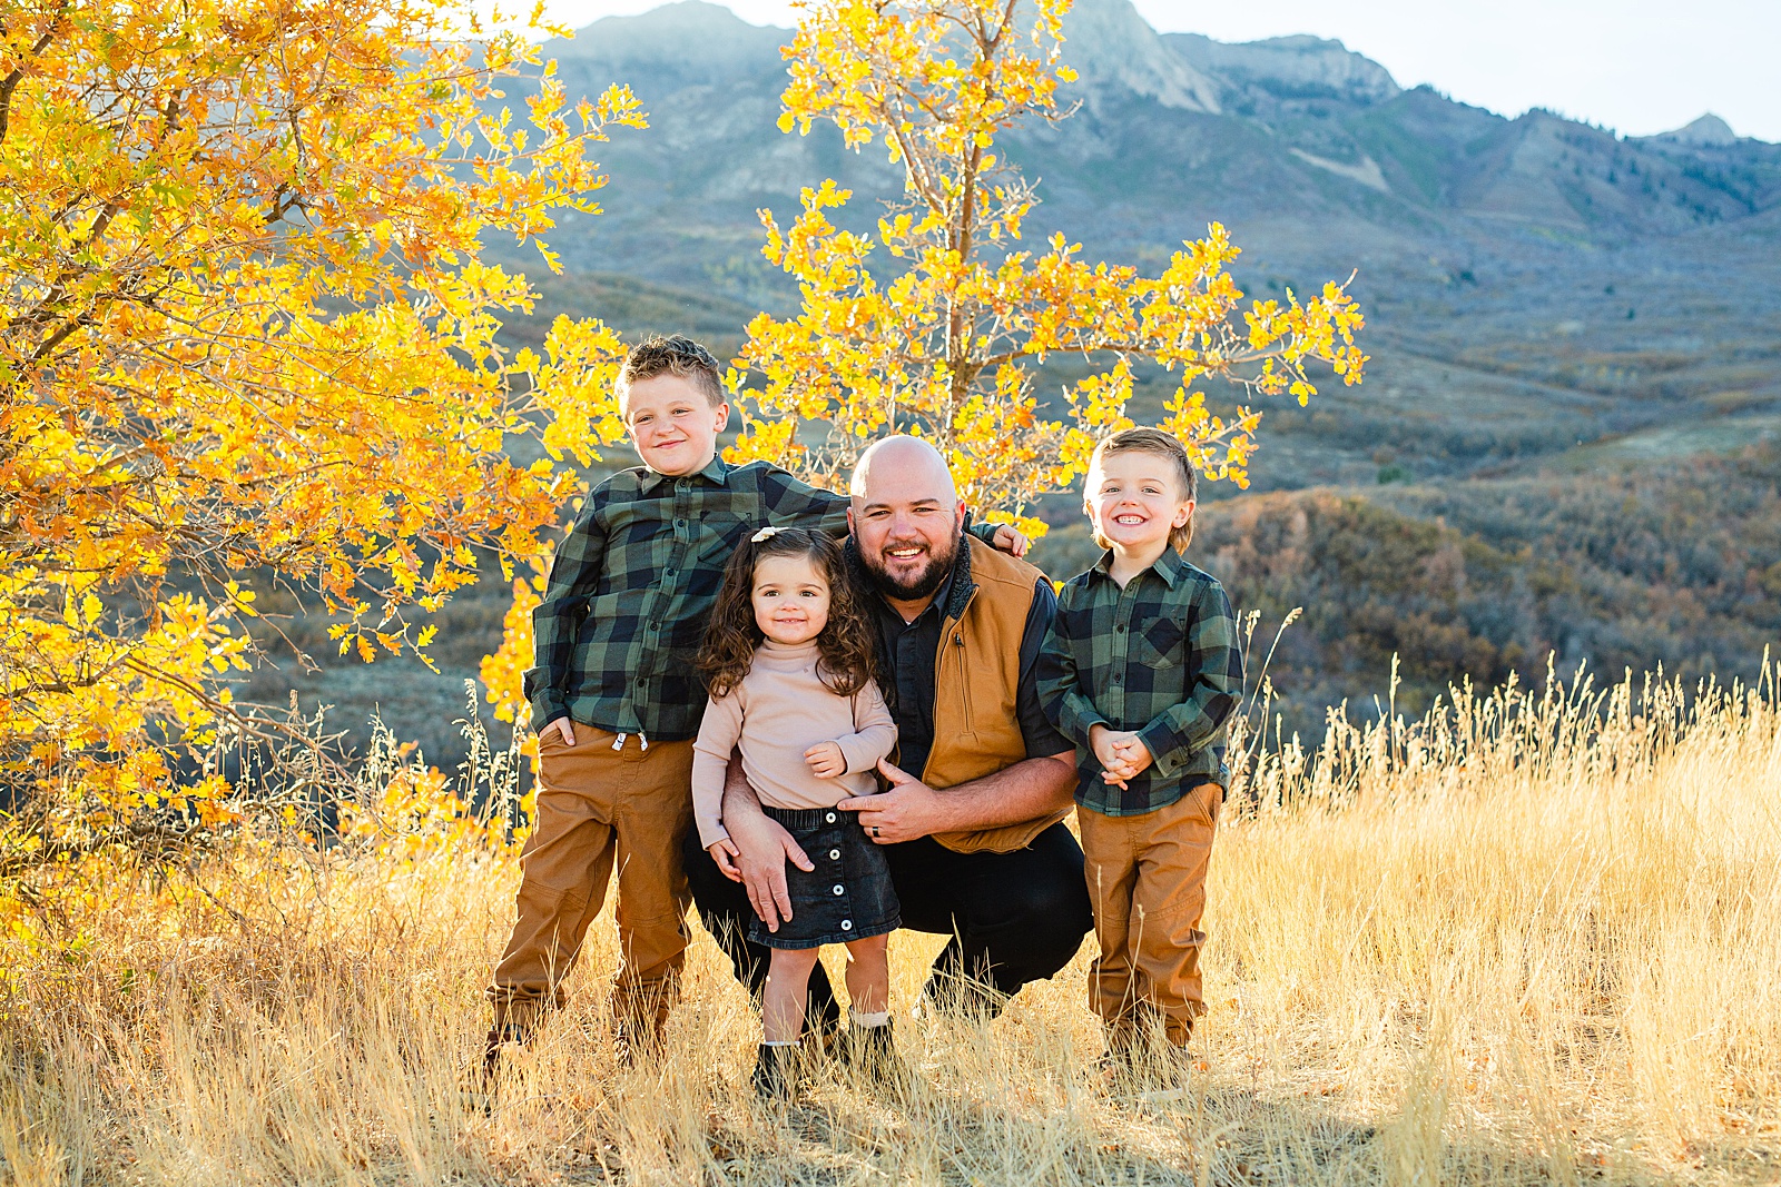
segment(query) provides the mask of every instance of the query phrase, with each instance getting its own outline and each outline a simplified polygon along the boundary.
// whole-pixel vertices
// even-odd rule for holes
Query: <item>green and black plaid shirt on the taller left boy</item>
[[[572,717],[661,742],[698,737],[695,660],[723,566],[769,523],[842,536],[848,498],[721,457],[684,477],[636,466],[595,486],[533,610],[533,728]],[[994,539],[996,525],[972,532]]]

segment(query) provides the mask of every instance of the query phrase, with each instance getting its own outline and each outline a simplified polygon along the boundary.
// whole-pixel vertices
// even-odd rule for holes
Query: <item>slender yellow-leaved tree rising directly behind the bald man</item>
[[[1359,383],[1361,311],[1345,285],[1309,301],[1257,301],[1227,265],[1238,249],[1213,224],[1168,267],[1085,258],[1054,235],[1038,249],[1022,228],[1033,187],[996,153],[1021,121],[1056,121],[1069,0],[807,0],[785,50],[791,84],[780,128],[832,121],[853,149],[874,141],[901,166],[903,196],[876,235],[832,221],[851,199],[825,182],[782,226],[762,210],[766,256],[803,294],[794,317],[760,315],[739,361],[759,375],[755,408],[732,456],[768,457],[835,484],[889,431],[921,432],[951,459],[981,507],[1022,509],[1086,468],[1094,441],[1129,427],[1133,367],[1174,372],[1161,425],[1213,479],[1247,484],[1261,411],[1208,408],[1197,388],[1224,377],[1261,395],[1316,392],[1307,359]],[[1078,354],[1094,370],[1049,418],[1035,368]],[[800,427],[821,422],[826,434]],[[1044,525],[1022,518],[1028,532]]]

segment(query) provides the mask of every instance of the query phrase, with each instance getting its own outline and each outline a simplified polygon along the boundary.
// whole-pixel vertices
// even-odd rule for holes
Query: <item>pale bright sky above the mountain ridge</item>
[[[1715,112],[1738,135],[1781,141],[1781,0],[1134,0],[1163,32],[1220,41],[1338,37],[1405,87],[1519,116],[1548,107],[1649,135]],[[655,0],[547,0],[573,27]],[[791,25],[785,0],[732,0],[757,25]]]

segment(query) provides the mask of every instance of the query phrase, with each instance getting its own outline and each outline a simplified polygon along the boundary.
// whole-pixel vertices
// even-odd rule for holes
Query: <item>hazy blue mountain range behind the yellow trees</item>
[[[1270,409],[1257,486],[1519,473],[1596,441],[1736,440],[1781,415],[1776,146],[1712,126],[1697,144],[1546,110],[1509,119],[1402,89],[1334,41],[1161,36],[1129,0],[1079,0],[1067,48],[1085,20],[1083,61],[1145,61],[1122,53],[1131,37],[1186,46],[1197,75],[1104,66],[1061,89],[1063,103],[1083,100],[1072,117],[997,139],[1040,198],[1028,246],[1063,233],[1085,258],[1154,274],[1218,221],[1254,297],[1355,274],[1368,383],[1320,384],[1309,411]],[[629,276],[657,290],[627,331],[675,327],[673,294],[700,324],[720,306],[787,313],[798,292],[762,258],[757,212],[784,222],[825,178],[853,190],[834,214],[848,228],[871,230],[880,203],[901,199],[882,144],[850,151],[823,123],[778,132],[784,39],[682,4],[545,46],[570,94],[627,82],[650,112],[647,132],[600,146],[606,214],[568,214],[549,235],[570,272],[550,308],[607,315],[575,294],[611,285],[573,278]],[[1163,386],[1147,377],[1140,395],[1159,400]]]

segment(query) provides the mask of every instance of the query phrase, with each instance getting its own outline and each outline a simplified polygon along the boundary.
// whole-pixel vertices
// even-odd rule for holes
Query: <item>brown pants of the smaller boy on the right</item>
[[[1140,817],[1076,813],[1101,941],[1088,970],[1088,1009],[1101,1014],[1110,1045],[1134,1041],[1154,1013],[1179,1046],[1206,1013],[1200,915],[1222,804],[1224,788],[1202,783]]]

